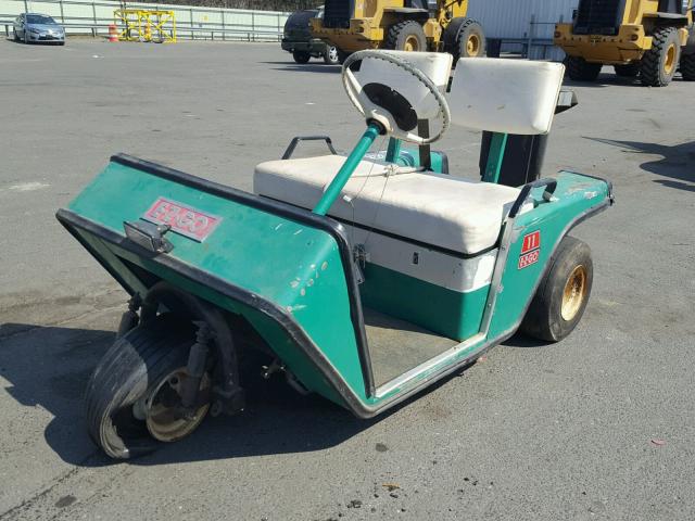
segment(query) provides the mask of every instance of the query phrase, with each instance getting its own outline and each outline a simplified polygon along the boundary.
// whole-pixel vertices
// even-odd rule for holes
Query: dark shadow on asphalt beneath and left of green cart
[[[36,408],[53,416],[43,436],[68,463],[102,467],[113,462],[89,440],[83,393],[114,338],[111,331],[0,326],[0,374],[9,382],[0,392],[27,408],[24,415],[33,415],[30,409]],[[425,392],[430,393],[446,381]],[[382,421],[421,394],[376,419],[361,420],[316,395],[301,396],[281,377],[270,381],[258,378],[257,383],[247,384],[248,404],[242,414],[207,418],[190,437],[130,463],[165,465],[327,449]]]

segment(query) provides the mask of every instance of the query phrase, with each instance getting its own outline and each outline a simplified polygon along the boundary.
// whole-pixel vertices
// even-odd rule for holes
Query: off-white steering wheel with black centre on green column
[[[417,100],[408,100],[393,87],[380,82],[369,82],[363,86],[355,77],[353,68],[356,68],[355,64],[364,60],[381,60],[397,69],[404,71],[418,81],[417,85],[409,85],[406,86],[406,88],[410,91],[420,89],[421,92],[417,96],[422,97],[422,99],[419,100],[419,102]],[[362,66],[364,66],[364,64],[359,63],[359,68],[362,68]],[[359,68],[356,69],[359,71]],[[388,77],[389,74],[392,75],[393,72],[384,71],[384,76]],[[386,128],[387,134],[391,134],[397,139],[416,144],[428,144],[440,139],[448,128],[451,112],[446,99],[437,85],[434,85],[422,71],[407,60],[403,60],[400,56],[384,51],[358,51],[348,56],[343,63],[342,78],[343,87],[352,104],[355,105],[367,120],[377,120]],[[375,79],[379,78],[375,77]],[[426,90],[422,90],[422,87]],[[412,104],[414,102],[417,104],[416,107]],[[413,130],[417,128],[417,122],[419,119],[416,109],[424,109],[424,105],[428,102],[430,105],[432,105],[432,102],[437,104],[434,106],[437,113],[433,117],[441,118],[442,126],[434,136],[425,138],[413,132]]]

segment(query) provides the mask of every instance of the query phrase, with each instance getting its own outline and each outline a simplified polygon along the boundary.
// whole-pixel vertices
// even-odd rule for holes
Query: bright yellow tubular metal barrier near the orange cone
[[[113,15],[121,25],[122,40],[176,43],[174,11],[117,9]]]

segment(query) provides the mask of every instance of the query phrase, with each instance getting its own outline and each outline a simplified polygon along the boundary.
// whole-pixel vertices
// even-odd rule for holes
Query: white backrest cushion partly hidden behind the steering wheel
[[[448,76],[452,71],[452,55],[447,52],[406,52],[406,51],[382,51],[384,54],[394,55],[403,61],[409,62],[419,68],[425,75],[445,92]],[[362,88],[368,84],[383,84],[397,90],[408,100],[420,119],[435,117],[439,113],[439,105],[430,91],[415,76],[407,71],[384,62],[383,60],[365,59],[359,65],[359,71],[355,72],[355,78]],[[368,100],[361,100],[365,105],[370,104]]]

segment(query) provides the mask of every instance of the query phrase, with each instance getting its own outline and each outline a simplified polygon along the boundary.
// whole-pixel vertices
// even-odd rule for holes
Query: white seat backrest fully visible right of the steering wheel
[[[547,134],[564,75],[560,63],[460,59],[448,94],[452,122],[476,130]]]

